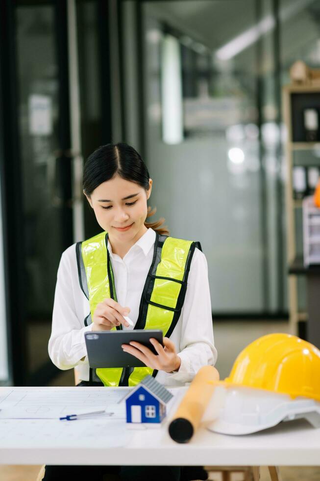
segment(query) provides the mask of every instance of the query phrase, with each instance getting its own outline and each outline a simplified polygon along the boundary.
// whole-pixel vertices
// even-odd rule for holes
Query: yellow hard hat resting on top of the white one
[[[320,401],[320,350],[290,334],[268,334],[240,352],[222,383]]]

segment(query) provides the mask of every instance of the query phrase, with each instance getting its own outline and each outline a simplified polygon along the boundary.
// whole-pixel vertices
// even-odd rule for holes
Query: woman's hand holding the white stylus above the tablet
[[[123,318],[130,312],[128,307],[122,307],[119,302],[111,298],[100,302],[93,316],[92,331],[110,331],[113,327],[123,324],[128,327],[129,323]]]

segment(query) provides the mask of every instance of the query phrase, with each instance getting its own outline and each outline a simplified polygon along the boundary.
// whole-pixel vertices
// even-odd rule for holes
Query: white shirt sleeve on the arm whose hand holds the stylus
[[[83,327],[83,319],[76,315],[71,273],[70,258],[64,252],[58,268],[48,346],[51,361],[62,370],[88,363],[84,333],[92,328],[92,324]]]

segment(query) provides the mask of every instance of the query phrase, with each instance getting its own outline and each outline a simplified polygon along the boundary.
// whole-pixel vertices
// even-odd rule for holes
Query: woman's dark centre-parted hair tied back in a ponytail
[[[145,190],[149,189],[150,176],[146,164],[133,147],[120,142],[102,145],[88,157],[83,170],[85,194],[90,197],[96,187],[116,175],[134,182]],[[147,218],[155,212],[155,208],[151,210],[151,207],[148,207]],[[169,235],[167,227],[162,225],[164,221],[162,217],[157,222],[145,222],[145,226],[151,227],[159,234]]]

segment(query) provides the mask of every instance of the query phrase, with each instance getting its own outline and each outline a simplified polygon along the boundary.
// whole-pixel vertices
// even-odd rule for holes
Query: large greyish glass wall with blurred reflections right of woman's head
[[[216,314],[286,310],[271,13],[267,0],[142,4],[150,205],[201,242]]]

